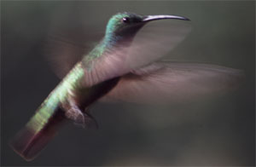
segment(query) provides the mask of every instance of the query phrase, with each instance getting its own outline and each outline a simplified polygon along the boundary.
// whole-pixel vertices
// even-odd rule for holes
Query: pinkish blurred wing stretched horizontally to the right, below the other
[[[234,89],[242,76],[241,71],[224,66],[155,62],[125,75],[102,101],[189,101]]]

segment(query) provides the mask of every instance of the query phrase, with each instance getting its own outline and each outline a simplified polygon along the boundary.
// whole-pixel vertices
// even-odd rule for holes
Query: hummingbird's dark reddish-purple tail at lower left
[[[15,138],[10,141],[10,146],[16,153],[20,154],[22,158],[25,158],[26,161],[31,161],[44,149],[48,142],[56,135],[64,117],[62,112],[55,112],[55,115],[49,118],[49,121],[44,124],[41,130],[34,130],[32,126],[37,125],[34,123],[30,124],[34,119],[35,116],[26,124],[26,127],[20,130],[20,132],[15,135]]]

